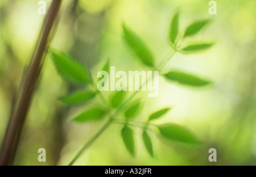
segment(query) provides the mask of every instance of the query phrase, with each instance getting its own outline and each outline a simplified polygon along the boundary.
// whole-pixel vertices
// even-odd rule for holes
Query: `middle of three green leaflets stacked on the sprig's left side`
[[[70,95],[64,96],[59,100],[66,104],[79,105],[79,104],[87,103],[95,95],[96,95],[96,92],[80,90],[80,91],[73,92]]]

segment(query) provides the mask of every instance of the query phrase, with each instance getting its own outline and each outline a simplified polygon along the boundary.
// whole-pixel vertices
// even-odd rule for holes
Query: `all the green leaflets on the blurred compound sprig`
[[[184,32],[181,32],[179,29],[179,16],[179,12],[176,12],[172,17],[167,37],[174,53],[180,52],[190,54],[212,47],[212,42],[193,42],[191,44],[183,45],[183,39],[197,35],[197,33],[210,23],[210,20],[193,22],[185,28]],[[147,47],[142,38],[124,23],[122,29],[123,40],[131,50],[131,53],[134,54],[135,58],[152,70],[161,68],[160,66],[156,66],[154,54],[151,49]],[[82,65],[72,57],[56,50],[50,50],[49,54],[57,71],[66,81],[74,85],[84,85],[85,87],[90,85],[95,87],[90,71],[86,66]],[[161,65],[165,65],[167,62],[168,60],[163,61]],[[109,68],[110,64],[108,61],[103,66],[102,70],[109,71]],[[208,81],[208,79],[177,69],[172,69],[166,74],[162,74],[162,76],[166,78],[167,81],[190,87],[204,87],[212,83],[211,81]],[[79,106],[90,102],[92,99],[96,98],[98,94],[101,94],[101,92],[98,91],[96,87],[94,90],[90,90],[86,87],[84,90],[78,90],[67,96],[63,96],[59,100],[69,106]],[[177,142],[183,145],[199,146],[201,144],[201,142],[187,128],[174,123],[155,124],[157,120],[171,110],[171,107],[165,107],[150,113],[144,122],[138,124],[135,119],[139,118],[143,103],[141,99],[126,103],[123,101],[126,97],[127,95],[125,91],[116,91],[109,97],[107,101],[108,105],[106,105],[107,108],[103,108],[103,106],[86,108],[79,113],[79,115],[76,115],[72,121],[76,123],[97,122],[107,119],[112,111],[121,112],[119,115],[117,113],[114,114],[114,117],[109,116],[108,119],[111,119],[112,123],[122,124],[123,127],[120,134],[126,149],[133,157],[135,157],[136,152],[135,127],[141,128],[141,140],[151,157],[154,157],[153,143],[151,140],[151,135],[154,133],[160,135],[164,140]]]

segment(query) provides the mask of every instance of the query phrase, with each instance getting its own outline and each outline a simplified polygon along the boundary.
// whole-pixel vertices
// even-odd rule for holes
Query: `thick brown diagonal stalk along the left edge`
[[[14,111],[11,113],[9,124],[6,129],[2,143],[0,165],[11,165],[13,163],[16,147],[19,143],[24,122],[26,121],[40,71],[42,70],[44,53],[51,39],[51,31],[57,18],[60,5],[61,0],[53,0],[46,18],[44,19],[38,44],[32,54],[26,77],[22,83],[22,90],[19,98],[16,100]]]

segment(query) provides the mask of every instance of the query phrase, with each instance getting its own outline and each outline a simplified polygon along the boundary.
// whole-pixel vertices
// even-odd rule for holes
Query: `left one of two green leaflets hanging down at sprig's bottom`
[[[125,125],[125,127],[123,127],[121,131],[121,136],[123,139],[123,143],[126,146],[126,149],[129,151],[131,156],[134,157],[135,156],[135,140],[134,140],[133,130],[127,127],[127,125]]]

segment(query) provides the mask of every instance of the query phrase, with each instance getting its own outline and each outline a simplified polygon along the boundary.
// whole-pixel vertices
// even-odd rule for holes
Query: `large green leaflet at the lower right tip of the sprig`
[[[189,130],[181,127],[176,124],[163,124],[158,125],[160,134],[167,140],[181,142],[184,144],[190,145],[200,145],[200,142],[197,140]]]

